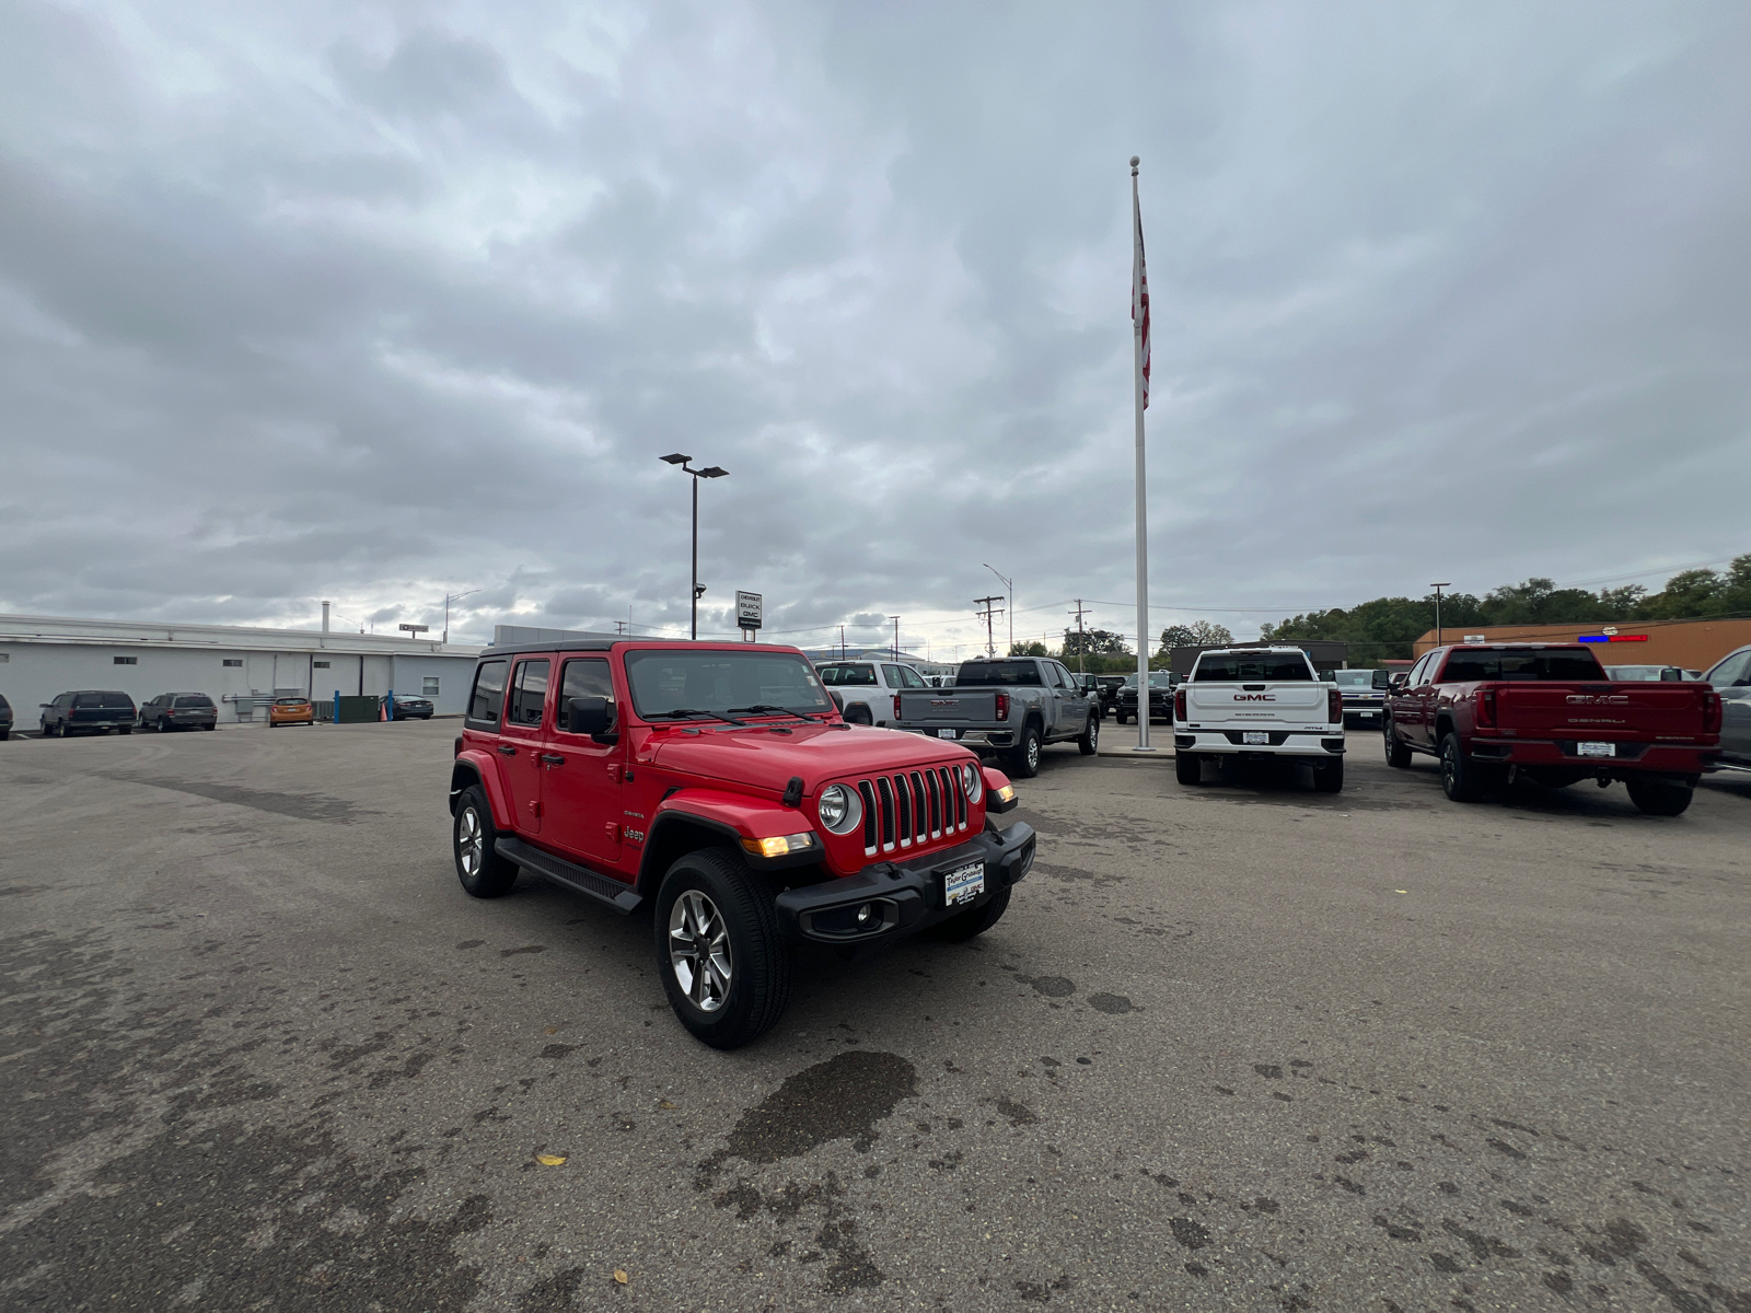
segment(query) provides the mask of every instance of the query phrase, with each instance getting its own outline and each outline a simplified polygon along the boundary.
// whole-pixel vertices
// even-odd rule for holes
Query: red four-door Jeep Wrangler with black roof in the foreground
[[[655,900],[669,1003],[718,1049],[777,1022],[800,940],[995,926],[1033,865],[1031,826],[986,819],[1014,807],[965,748],[846,725],[807,656],[751,642],[487,649],[450,772],[462,888]]]

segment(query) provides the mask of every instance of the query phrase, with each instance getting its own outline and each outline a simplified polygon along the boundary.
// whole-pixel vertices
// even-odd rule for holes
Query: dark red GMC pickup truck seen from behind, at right
[[[1467,642],[1394,679],[1383,734],[1387,765],[1441,758],[1453,802],[1516,777],[1620,779],[1637,809],[1677,816],[1719,756],[1721,699],[1697,683],[1613,683],[1579,642]]]

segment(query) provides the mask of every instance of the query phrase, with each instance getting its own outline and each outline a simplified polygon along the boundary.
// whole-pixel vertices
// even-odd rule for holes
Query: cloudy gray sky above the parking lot
[[[1751,550],[1740,4],[0,0],[0,611],[1135,632]],[[1166,609],[1180,607],[1180,609]]]

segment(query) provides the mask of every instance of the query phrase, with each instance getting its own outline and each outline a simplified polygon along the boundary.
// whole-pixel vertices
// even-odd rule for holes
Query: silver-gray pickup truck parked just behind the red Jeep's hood
[[[1047,656],[961,662],[953,688],[902,692],[895,728],[998,753],[1003,770],[1031,779],[1040,748],[1075,739],[1084,756],[1100,746],[1100,700]]]

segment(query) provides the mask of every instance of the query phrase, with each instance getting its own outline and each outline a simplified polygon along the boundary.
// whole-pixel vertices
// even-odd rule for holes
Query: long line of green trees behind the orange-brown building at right
[[[1660,592],[1632,583],[1623,588],[1558,588],[1553,579],[1492,588],[1483,597],[1445,593],[1441,628],[1459,634],[1494,625],[1592,625],[1637,620],[1711,620],[1751,616],[1751,553],[1735,557],[1725,572],[1679,571]],[[1376,597],[1352,607],[1310,611],[1264,625],[1264,642],[1338,639],[1350,644],[1350,665],[1408,658],[1411,642],[1434,628],[1434,593]]]

